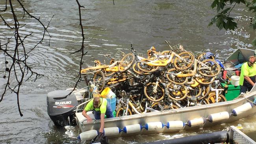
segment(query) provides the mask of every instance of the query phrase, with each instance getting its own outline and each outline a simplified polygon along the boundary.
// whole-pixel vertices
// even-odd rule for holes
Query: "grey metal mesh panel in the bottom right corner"
[[[255,144],[254,140],[249,138],[235,126],[230,126],[229,135],[230,144]]]

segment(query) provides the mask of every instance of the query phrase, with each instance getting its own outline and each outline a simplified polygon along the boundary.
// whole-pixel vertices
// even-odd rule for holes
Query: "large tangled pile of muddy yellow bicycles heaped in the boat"
[[[105,87],[115,92],[116,116],[226,101],[223,89],[218,89],[221,67],[214,57],[195,56],[180,44],[165,42],[170,50],[157,52],[152,46],[147,57],[131,44],[130,53],[105,55],[111,58],[109,65],[95,61],[81,74],[85,81],[94,81],[98,92]]]

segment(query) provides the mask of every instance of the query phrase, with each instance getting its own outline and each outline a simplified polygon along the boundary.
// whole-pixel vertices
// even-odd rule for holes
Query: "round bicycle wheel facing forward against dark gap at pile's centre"
[[[163,100],[165,96],[164,89],[158,84],[156,91],[154,92],[154,88],[156,87],[156,83],[147,83],[144,87],[144,94],[148,98],[148,100],[152,102],[159,102]]]

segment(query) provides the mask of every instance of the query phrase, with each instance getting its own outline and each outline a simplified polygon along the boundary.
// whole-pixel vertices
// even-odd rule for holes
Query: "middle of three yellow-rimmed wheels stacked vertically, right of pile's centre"
[[[182,78],[178,78],[177,76],[175,76],[174,74],[170,74],[171,72],[173,73],[178,73],[179,71],[176,70],[175,68],[171,68],[167,71],[166,73],[166,78],[171,82],[174,83],[175,85],[184,85],[188,78],[187,77],[182,77]]]

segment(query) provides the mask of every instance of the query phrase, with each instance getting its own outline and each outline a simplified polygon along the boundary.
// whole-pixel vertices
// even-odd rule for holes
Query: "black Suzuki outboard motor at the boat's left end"
[[[74,113],[78,102],[76,96],[69,93],[69,90],[56,90],[47,94],[47,112],[55,126],[76,125]]]

